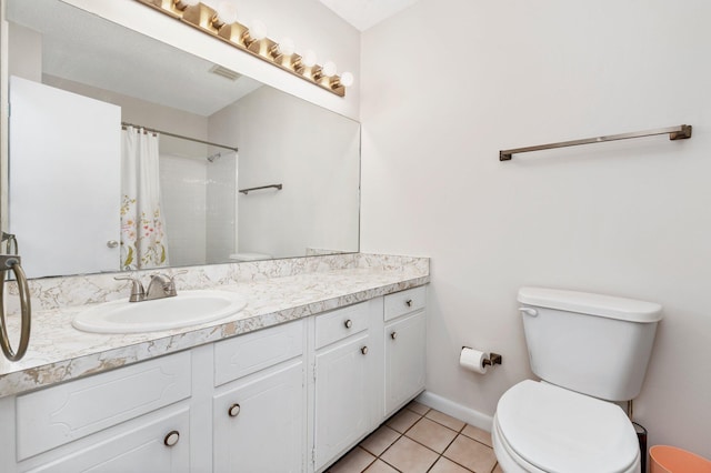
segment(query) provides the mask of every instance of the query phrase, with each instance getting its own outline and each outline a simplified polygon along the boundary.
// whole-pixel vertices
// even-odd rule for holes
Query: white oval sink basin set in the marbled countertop
[[[198,325],[244,309],[247,302],[227,291],[181,291],[152,301],[104,302],[79,313],[74,329],[94,333],[139,333]]]

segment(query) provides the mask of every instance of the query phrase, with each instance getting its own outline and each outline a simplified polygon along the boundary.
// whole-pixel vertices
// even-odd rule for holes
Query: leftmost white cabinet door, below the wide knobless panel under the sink
[[[116,436],[29,471],[187,473],[190,471],[189,410],[186,406],[170,411],[150,421],[118,426]]]

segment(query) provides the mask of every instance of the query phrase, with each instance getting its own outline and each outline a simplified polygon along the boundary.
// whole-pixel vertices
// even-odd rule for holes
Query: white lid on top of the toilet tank
[[[662,319],[662,306],[655,302],[589,292],[548,288],[521,288],[519,302],[538,308],[558,309],[628,322],[652,323]]]

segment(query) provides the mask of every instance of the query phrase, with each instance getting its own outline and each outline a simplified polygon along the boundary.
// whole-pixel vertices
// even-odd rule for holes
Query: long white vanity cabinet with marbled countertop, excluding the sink
[[[419,260],[252,275],[220,286],[248,294],[242,313],[172,332],[86,334],[80,308],[41,314],[73,336],[69,359],[2,365],[2,471],[323,471],[424,389]]]

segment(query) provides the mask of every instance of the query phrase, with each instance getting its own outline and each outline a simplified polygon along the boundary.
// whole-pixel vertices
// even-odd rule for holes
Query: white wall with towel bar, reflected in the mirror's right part
[[[358,251],[359,127],[262,87],[212,114],[210,140],[239,143],[239,252]]]

